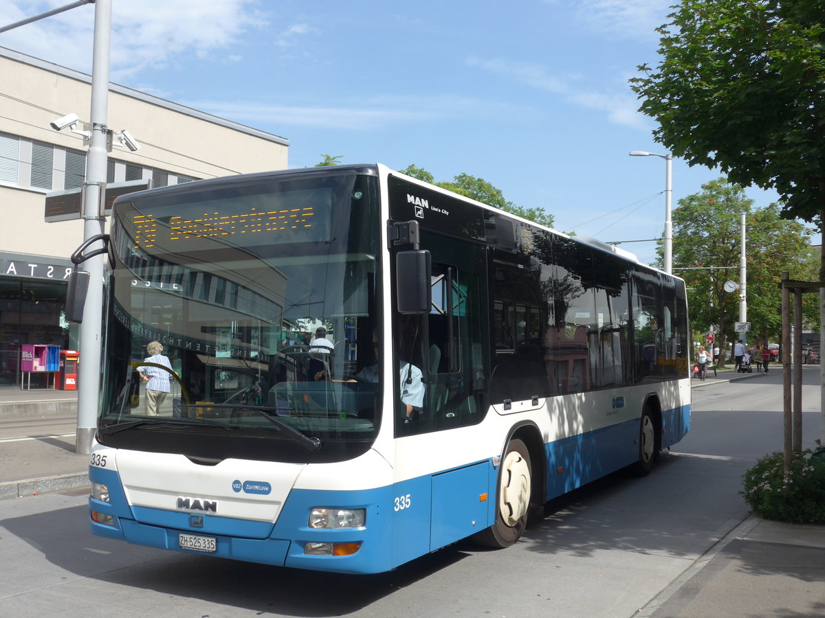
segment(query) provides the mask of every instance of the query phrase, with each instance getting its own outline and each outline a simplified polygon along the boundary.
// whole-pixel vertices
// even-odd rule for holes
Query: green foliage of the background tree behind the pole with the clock
[[[724,178],[700,193],[680,199],[673,213],[673,265],[687,283],[691,323],[695,333],[716,326],[724,340],[737,339],[739,294],[724,290],[726,281],[739,283],[745,217],[747,259],[747,320],[753,338],[780,340],[782,328],[780,274],[791,279],[815,279],[818,256],[810,245],[811,231],[781,217],[779,204],[752,208],[740,185]],[[728,268],[725,268],[728,267]],[[818,322],[818,297],[803,297],[804,319]],[[751,341],[751,343],[753,343]]]

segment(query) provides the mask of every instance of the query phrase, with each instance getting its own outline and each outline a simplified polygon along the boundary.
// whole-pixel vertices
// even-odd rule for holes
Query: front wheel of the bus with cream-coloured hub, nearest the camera
[[[530,511],[532,482],[530,452],[521,440],[511,440],[498,471],[496,519],[493,526],[476,535],[479,544],[499,549],[521,538]]]

